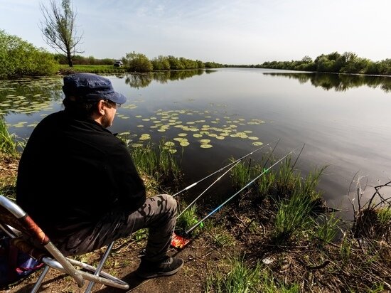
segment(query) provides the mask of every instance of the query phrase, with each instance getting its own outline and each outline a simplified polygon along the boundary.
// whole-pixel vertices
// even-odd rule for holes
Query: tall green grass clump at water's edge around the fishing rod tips
[[[287,156],[279,169],[270,169],[257,180],[257,184],[250,186],[250,193],[269,197],[277,208],[274,220],[273,240],[282,244],[286,241],[295,240],[303,233],[308,233],[311,228],[318,234],[316,237],[325,241],[335,237],[336,220],[333,218],[316,222],[315,208],[321,204],[321,194],[316,191],[316,186],[326,166],[310,172],[306,178],[302,178],[300,172],[294,171],[291,156]],[[240,162],[232,169],[232,185],[235,187],[245,186],[252,177],[261,174],[264,168],[260,164]],[[316,229],[317,228],[317,229]]]

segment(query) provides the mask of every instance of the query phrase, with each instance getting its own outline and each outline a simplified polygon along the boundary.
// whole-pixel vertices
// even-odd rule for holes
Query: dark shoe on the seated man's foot
[[[183,260],[179,257],[166,257],[159,262],[150,262],[149,260],[141,259],[139,268],[136,270],[136,275],[143,279],[171,276],[178,272],[182,266]]]

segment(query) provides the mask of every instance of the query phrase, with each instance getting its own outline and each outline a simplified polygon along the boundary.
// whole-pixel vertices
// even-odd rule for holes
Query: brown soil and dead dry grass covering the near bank
[[[2,186],[7,181],[12,183],[16,175],[16,161],[3,157],[0,164],[1,182],[5,182]],[[210,211],[208,208],[203,210],[204,213]],[[324,213],[326,210],[323,207]],[[205,225],[197,228],[197,237],[191,239],[188,245],[169,251],[170,255],[185,261],[176,275],[146,281],[135,276],[134,271],[146,242],[145,235],[136,234],[117,241],[104,270],[129,282],[127,292],[195,293],[208,292],[208,288],[209,292],[217,292],[213,286],[230,275],[230,260],[236,257],[246,267],[258,265],[260,268],[257,279],[262,283],[258,284],[262,289],[256,292],[264,292],[264,288],[269,289],[267,292],[288,292],[286,290],[292,289],[292,286],[296,289],[289,292],[391,292],[389,227],[381,233],[372,234],[377,235],[374,240],[360,238],[360,235],[354,238],[348,230],[343,232],[342,240],[333,243],[318,239],[322,231],[318,231],[316,236],[301,233],[294,240],[278,241],[273,238],[275,220],[274,200],[257,198],[250,193],[240,194],[205,220]],[[365,223],[367,235],[375,231],[372,222]],[[98,250],[80,258],[94,263],[101,254],[102,251]],[[39,273],[0,292],[29,292]],[[207,286],[208,280],[211,287]],[[71,277],[50,270],[40,292],[83,290],[77,288]],[[93,292],[125,291],[96,285]]]

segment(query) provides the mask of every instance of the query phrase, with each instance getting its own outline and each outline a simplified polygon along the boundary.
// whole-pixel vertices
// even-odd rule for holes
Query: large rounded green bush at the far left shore
[[[53,55],[0,30],[0,78],[51,75],[58,69]]]

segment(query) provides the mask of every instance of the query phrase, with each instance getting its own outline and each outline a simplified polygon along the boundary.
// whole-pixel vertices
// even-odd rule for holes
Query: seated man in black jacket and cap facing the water
[[[146,254],[136,273],[175,274],[168,257],[176,201],[146,198],[144,183],[124,143],[107,127],[127,98],[109,79],[90,73],[65,76],[65,109],[33,130],[18,166],[16,201],[65,255],[96,250],[149,228]]]

